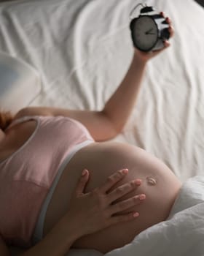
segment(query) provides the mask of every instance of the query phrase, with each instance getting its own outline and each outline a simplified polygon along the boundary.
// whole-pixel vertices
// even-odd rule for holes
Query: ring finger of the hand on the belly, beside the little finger
[[[141,195],[136,195],[134,197],[131,197],[127,200],[123,200],[119,203],[116,203],[111,206],[110,213],[111,214],[117,214],[120,211],[127,210],[130,207],[137,206],[140,204],[142,201],[146,199],[146,195],[141,194]]]

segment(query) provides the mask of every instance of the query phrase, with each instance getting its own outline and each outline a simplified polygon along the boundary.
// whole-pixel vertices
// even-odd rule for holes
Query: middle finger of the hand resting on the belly
[[[137,189],[141,185],[141,179],[137,178],[134,181],[130,181],[126,184],[123,184],[120,187],[117,187],[113,191],[111,191],[108,196],[107,200],[109,203],[114,202],[115,200],[119,199],[123,195],[126,195],[127,193],[133,191],[134,189]]]

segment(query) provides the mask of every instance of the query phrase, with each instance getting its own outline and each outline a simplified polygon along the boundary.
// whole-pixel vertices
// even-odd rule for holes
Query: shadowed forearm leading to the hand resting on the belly
[[[74,222],[68,222],[68,218],[61,219],[50,233],[35,246],[21,254],[22,256],[63,256],[71,245],[79,238],[79,230],[76,230]]]

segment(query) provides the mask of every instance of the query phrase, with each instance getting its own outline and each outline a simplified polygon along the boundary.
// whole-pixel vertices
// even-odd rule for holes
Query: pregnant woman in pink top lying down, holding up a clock
[[[101,111],[1,113],[0,255],[9,255],[10,245],[26,248],[27,256],[109,252],[168,217],[181,187],[172,171],[141,148],[107,141],[122,131],[146,62],[161,51],[135,49]]]

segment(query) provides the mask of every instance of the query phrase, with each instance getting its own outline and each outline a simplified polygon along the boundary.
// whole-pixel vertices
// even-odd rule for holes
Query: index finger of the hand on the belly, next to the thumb
[[[113,187],[117,182],[122,180],[128,173],[127,169],[118,170],[116,173],[112,174],[106,179],[105,184],[103,184],[99,190],[103,193],[106,193],[111,187]]]

